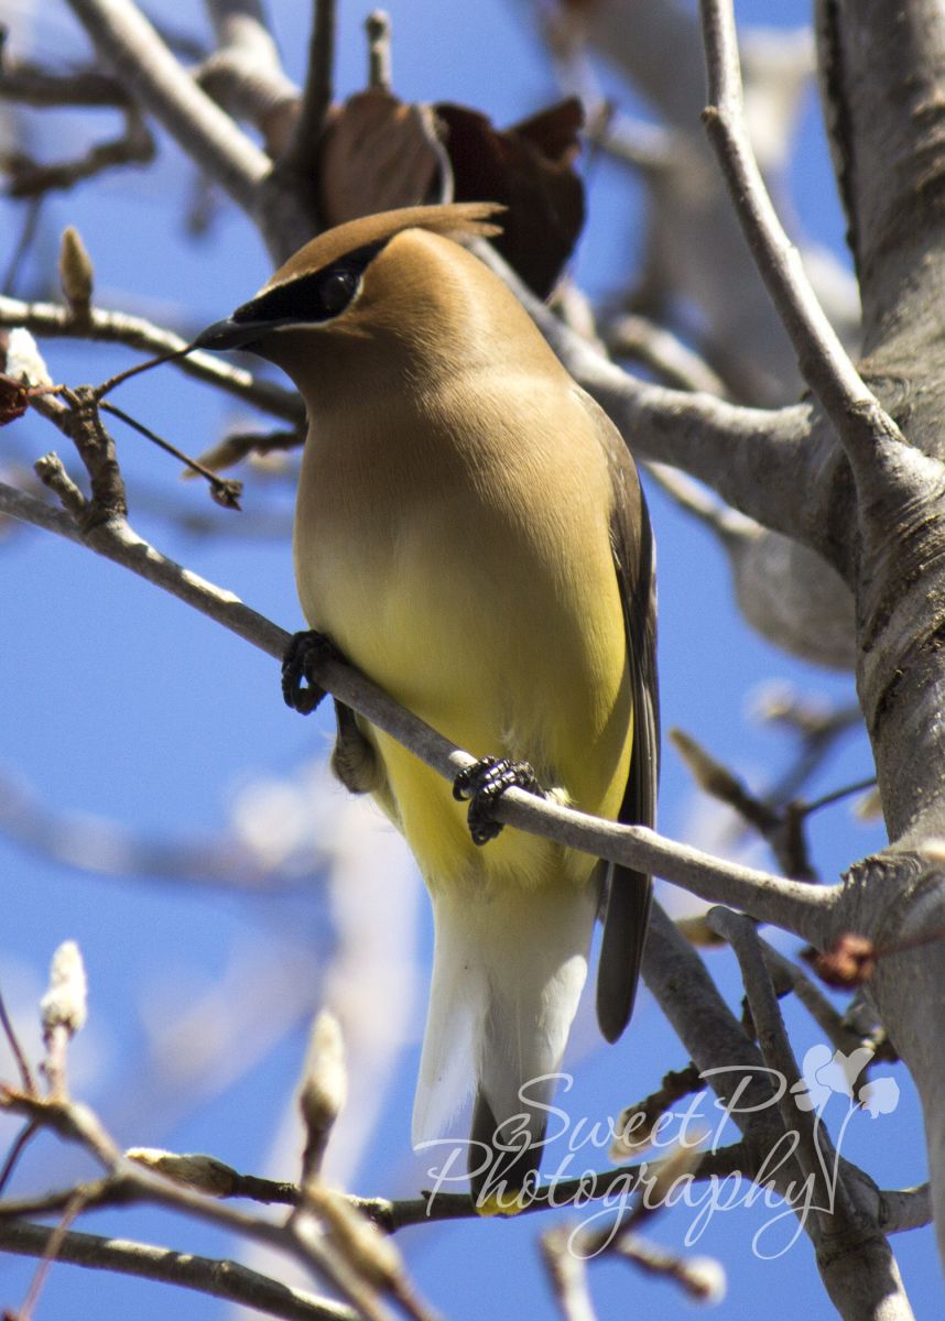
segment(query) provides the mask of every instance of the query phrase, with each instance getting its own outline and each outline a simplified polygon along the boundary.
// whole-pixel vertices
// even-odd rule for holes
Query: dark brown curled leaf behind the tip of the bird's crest
[[[465,106],[434,107],[453,169],[453,199],[502,202],[506,262],[539,297],[547,297],[584,223],[584,185],[574,169],[583,110],[576,98],[511,128],[497,129]]]

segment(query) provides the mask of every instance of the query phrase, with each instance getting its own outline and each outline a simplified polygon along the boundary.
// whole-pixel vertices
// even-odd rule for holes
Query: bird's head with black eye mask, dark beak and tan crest
[[[411,346],[449,341],[460,324],[474,318],[477,300],[469,275],[464,279],[455,269],[457,260],[461,269],[464,254],[444,239],[461,243],[498,234],[490,217],[501,210],[492,202],[412,206],[328,230],[289,258],[255,297],[208,326],[193,347],[259,354],[307,392],[315,363],[341,367],[352,349],[373,343],[375,351],[402,358]],[[484,279],[494,279],[474,259],[465,260]]]

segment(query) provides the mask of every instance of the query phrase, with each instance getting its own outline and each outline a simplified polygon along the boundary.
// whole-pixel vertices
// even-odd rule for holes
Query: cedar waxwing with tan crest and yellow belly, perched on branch
[[[317,633],[476,757],[652,824],[658,733],[653,542],[633,461],[517,299],[463,239],[486,203],[411,207],[307,243],[196,341],[278,363],[309,433],[295,572]],[[336,703],[333,768],[403,832],[435,956],[414,1143],[474,1087],[480,1209],[537,1178],[547,1108],[604,915],[597,1018],[633,1008],[650,878],[506,830],[476,847],[451,786]],[[535,783],[537,782],[537,783]],[[498,835],[473,795],[477,841]],[[505,1202],[502,1194],[505,1190]]]

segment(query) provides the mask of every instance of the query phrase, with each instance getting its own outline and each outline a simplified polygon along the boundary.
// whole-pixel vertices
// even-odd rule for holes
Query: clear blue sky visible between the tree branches
[[[406,99],[478,106],[497,123],[554,99],[541,49],[518,7],[500,0],[482,0],[476,7],[394,0],[389,9],[395,33],[394,82]],[[753,0],[739,5],[739,12],[745,21],[765,24],[806,20],[806,7],[793,0]],[[342,7],[341,91],[361,85],[361,18],[357,7]],[[280,45],[296,78],[301,75],[303,21],[303,7],[278,7]],[[81,49],[71,22],[58,12],[52,17],[46,12],[40,30],[62,57]],[[16,40],[16,20],[13,33]],[[484,69],[489,70],[485,85]],[[70,143],[102,136],[106,118],[33,114],[29,123],[37,155],[54,156]],[[813,94],[793,186],[809,232],[843,256],[842,222]],[[266,255],[250,226],[233,211],[218,219],[209,239],[186,242],[184,188],[180,156],[163,141],[161,157],[151,172],[112,176],[103,185],[52,199],[22,291],[38,296],[53,280],[58,232],[74,223],[93,254],[102,306],[127,306],[184,330],[226,314],[263,283]],[[16,232],[12,217],[4,203],[8,248]],[[579,255],[580,277],[591,289],[600,292],[619,283],[615,272],[638,223],[638,198],[623,176],[608,166],[595,169],[589,223]],[[0,254],[0,260],[5,264],[7,256]],[[50,343],[48,358],[53,375],[70,383],[102,379],[132,361],[116,347],[90,350],[66,342]],[[192,453],[205,449],[223,425],[264,425],[208,390],[182,384],[170,370],[131,383],[120,403]],[[239,515],[211,506],[196,483],[180,483],[168,460],[145,441],[120,428],[116,435],[137,530],[284,627],[300,626],[288,542],[230,535],[227,528]],[[58,445],[58,436],[38,419],[25,420],[3,435],[0,466],[32,462]],[[263,480],[255,480],[246,505],[248,514],[264,506],[288,518],[291,491],[274,494]],[[219,535],[200,538],[181,530],[167,517],[168,510],[181,509],[211,519]],[[681,518],[660,491],[652,491],[652,511],[660,547],[665,724],[689,731],[752,785],[764,786],[788,762],[790,748],[782,736],[752,720],[752,694],[759,684],[786,680],[805,694],[846,700],[852,696],[852,679],[794,662],[752,634],[734,610],[718,547],[702,528]],[[234,820],[245,831],[255,823],[264,835],[267,812],[285,811],[287,803],[297,810],[293,777],[299,768],[324,758],[328,725],[322,717],[303,723],[284,708],[278,668],[268,658],[127,572],[65,543],[22,532],[0,548],[4,777],[17,777],[40,802],[75,814],[86,830],[104,819],[147,840],[202,843],[218,838]],[[812,791],[868,773],[868,746],[854,736]],[[669,749],[662,787],[662,828],[694,838],[704,804]],[[321,806],[312,812],[319,828],[329,830],[346,819],[348,806],[337,787],[320,793]],[[363,832],[369,818],[359,820],[354,830]],[[397,929],[403,952],[385,950],[385,958],[391,960],[391,978],[400,978],[404,964],[408,968],[403,984],[398,982],[407,1042],[393,1063],[379,1099],[379,1123],[352,1176],[352,1188],[365,1194],[408,1196],[423,1177],[407,1140],[430,923],[400,845],[383,828],[378,834],[377,855],[365,851],[357,859],[382,889],[402,896],[397,911],[403,919]],[[77,838],[74,830],[70,838]],[[308,838],[304,823],[299,838],[301,851]],[[813,843],[818,865],[833,880],[846,864],[878,847],[880,835],[875,827],[856,823],[847,806],[839,806],[817,818]],[[767,861],[764,853],[756,856]],[[91,1017],[74,1049],[75,1089],[100,1110],[119,1141],[211,1151],[241,1169],[295,1177],[292,1139],[278,1157],[274,1144],[291,1106],[308,1016],[319,1005],[337,958],[337,937],[326,923],[319,877],[301,876],[295,888],[275,896],[247,897],[222,886],[160,880],[145,869],[120,878],[87,875],[4,839],[0,877],[0,985],[24,1030],[33,1030],[28,1024],[54,947],[66,938],[82,946]],[[382,900],[375,896],[370,901]],[[790,948],[790,942],[782,943]],[[418,971],[411,982],[415,952]],[[731,960],[716,954],[711,967],[737,1007],[740,988]],[[287,976],[284,995],[280,972]],[[254,988],[252,976],[266,980],[270,999]],[[214,1041],[214,1005],[221,1013],[237,1005],[235,1022],[227,1020],[230,1036],[222,1042]],[[189,1022],[189,1015],[190,1054],[170,1032],[174,1024]],[[817,1044],[817,1033],[796,1009],[789,1022],[797,1033],[798,1054],[804,1054]],[[168,1041],[170,1053],[155,1054],[156,1044]],[[198,1067],[201,1055],[213,1058],[210,1070]],[[657,1086],[666,1069],[685,1062],[682,1048],[649,996],[642,997],[632,1030],[612,1049],[595,1040],[591,1017],[583,1015],[572,1042],[571,1114],[616,1115]],[[882,1185],[908,1185],[924,1177],[921,1120],[903,1070],[883,1073],[895,1077],[903,1090],[900,1108],[895,1116],[852,1116],[843,1153],[860,1161]],[[358,1086],[374,1086],[373,1075],[367,1083],[365,1075],[353,1077],[352,1087]],[[831,1106],[827,1119],[839,1123],[843,1099],[835,1098]],[[11,1124],[0,1123],[0,1140],[12,1132]],[[282,1164],[276,1166],[274,1160]],[[600,1153],[593,1164],[603,1164]],[[44,1139],[24,1160],[16,1186],[59,1184],[81,1168],[71,1152]],[[825,1314],[806,1240],[775,1260],[763,1262],[752,1251],[752,1235],[771,1217],[771,1210],[759,1206],[730,1209],[715,1217],[695,1248],[718,1255],[728,1268],[728,1297],[719,1314],[734,1321],[755,1317],[761,1291],[790,1300],[792,1314]],[[653,1236],[678,1244],[691,1223],[691,1209],[679,1209],[654,1223]],[[133,1218],[108,1213],[90,1218],[87,1227],[208,1254],[239,1256],[242,1251],[222,1235],[165,1213]],[[404,1234],[400,1244],[422,1292],[447,1316],[465,1318],[488,1309],[504,1317],[519,1314],[525,1306],[551,1316],[537,1231],[534,1218],[422,1227]],[[930,1232],[900,1236],[896,1250],[917,1314],[937,1314],[940,1277]],[[21,1301],[30,1271],[29,1264],[0,1259],[4,1305]],[[656,1309],[666,1321],[689,1314],[689,1305],[670,1285],[630,1273],[625,1266],[596,1264],[591,1279],[601,1317],[623,1314],[628,1305]],[[133,1309],[139,1318],[156,1318],[167,1314],[168,1301],[167,1291],[157,1285],[61,1267],[53,1272],[37,1314],[71,1321],[93,1309],[99,1316]],[[222,1304],[182,1292],[173,1295],[172,1305],[181,1321],[215,1321],[226,1314]]]

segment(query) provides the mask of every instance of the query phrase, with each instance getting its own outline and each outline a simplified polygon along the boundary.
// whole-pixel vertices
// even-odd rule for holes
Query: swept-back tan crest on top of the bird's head
[[[402,230],[430,230],[461,243],[473,238],[493,238],[502,232],[490,217],[506,210],[498,202],[452,202],[444,206],[404,206],[397,211],[381,211],[348,221],[311,239],[280,266],[266,289],[295,280],[300,275],[321,271],[348,252],[382,243]]]

